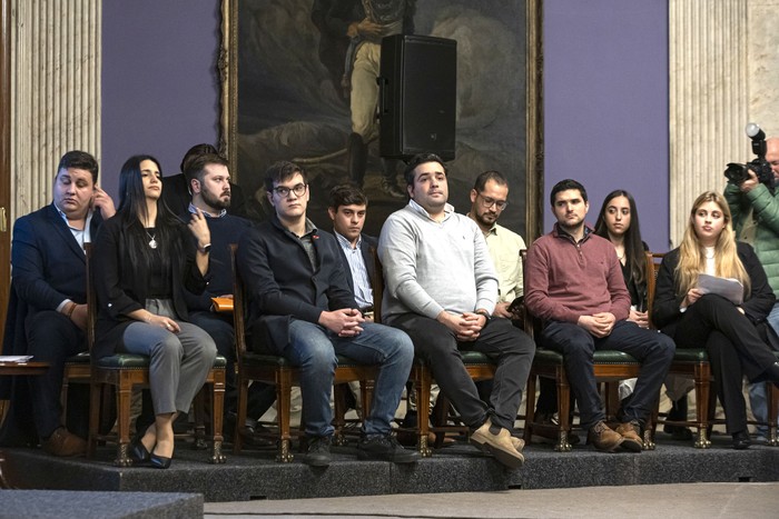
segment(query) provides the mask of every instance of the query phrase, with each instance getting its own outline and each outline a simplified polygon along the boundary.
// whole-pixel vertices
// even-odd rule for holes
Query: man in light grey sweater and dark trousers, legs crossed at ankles
[[[386,282],[383,322],[412,338],[416,355],[473,431],[471,441],[507,467],[520,467],[524,442],[511,431],[535,346],[510,320],[491,319],[495,269],[476,223],[447,203],[441,158],[414,157],[405,179],[411,200],[389,216],[378,242]],[[479,398],[460,349],[497,362],[489,405]]]

